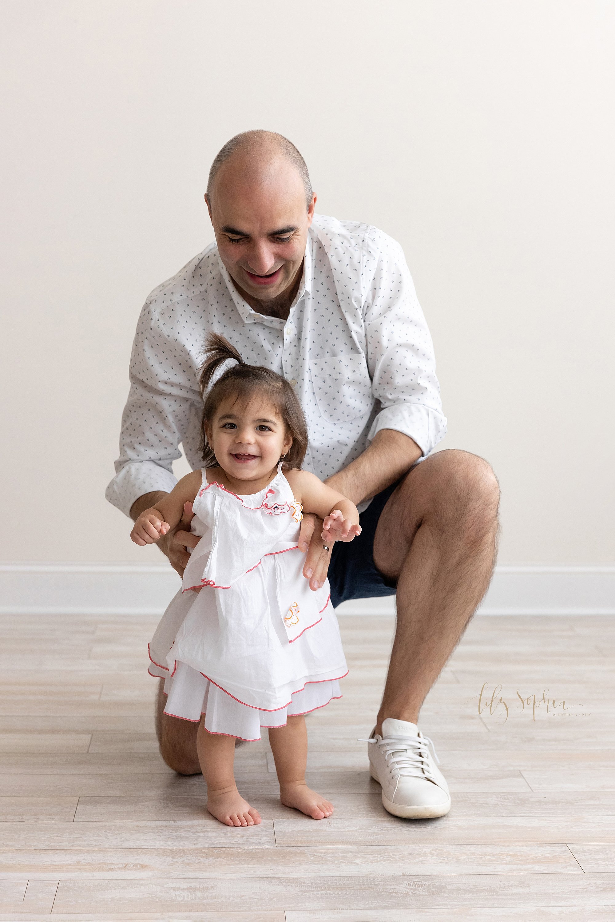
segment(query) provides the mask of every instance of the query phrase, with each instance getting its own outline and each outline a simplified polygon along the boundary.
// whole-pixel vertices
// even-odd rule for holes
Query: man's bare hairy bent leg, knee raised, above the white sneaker
[[[491,581],[500,491],[477,455],[443,451],[409,471],[378,521],[373,560],[397,580],[396,634],[385,717],[417,723],[432,688]]]

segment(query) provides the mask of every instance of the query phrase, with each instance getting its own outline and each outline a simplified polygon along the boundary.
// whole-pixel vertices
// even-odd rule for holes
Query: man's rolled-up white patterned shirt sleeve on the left
[[[173,489],[177,480],[172,464],[181,457],[179,444],[191,429],[191,417],[194,429],[194,414],[200,405],[195,368],[181,339],[174,335],[172,317],[154,317],[153,313],[146,302],[136,326],[120,456],[105,493],[126,515],[139,496]]]

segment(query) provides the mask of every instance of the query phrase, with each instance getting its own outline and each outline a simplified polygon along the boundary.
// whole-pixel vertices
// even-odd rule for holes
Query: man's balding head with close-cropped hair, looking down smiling
[[[301,272],[316,196],[297,148],[271,131],[232,137],[205,196],[220,258],[240,290],[274,301]]]

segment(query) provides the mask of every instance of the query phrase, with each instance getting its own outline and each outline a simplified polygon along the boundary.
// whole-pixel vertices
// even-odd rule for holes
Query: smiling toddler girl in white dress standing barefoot
[[[302,509],[323,518],[330,547],[360,534],[359,513],[301,469],[307,429],[290,384],[245,364],[224,337],[210,336],[206,354],[204,469],[139,515],[131,534],[152,544],[193,503],[191,528],[201,539],[149,644],[149,672],[165,677],[164,713],[199,722],[207,810],[220,822],[261,822],[233,776],[235,739],[260,739],[260,727],[269,730],[282,803],[322,820],[333,806],[305,784],[302,715],[341,697],[348,668],[328,580],[313,590],[302,575],[299,523]],[[229,359],[236,364],[207,391]]]

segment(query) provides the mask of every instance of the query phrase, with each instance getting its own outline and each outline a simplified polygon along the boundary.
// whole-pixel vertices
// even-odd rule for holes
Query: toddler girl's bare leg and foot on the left
[[[242,798],[232,773],[235,738],[207,733],[204,719],[198,725],[196,751],[207,781],[207,810],[227,826],[257,826],[261,822],[258,810]]]

